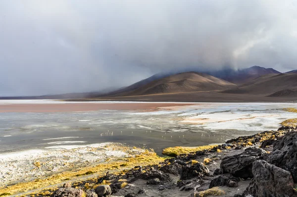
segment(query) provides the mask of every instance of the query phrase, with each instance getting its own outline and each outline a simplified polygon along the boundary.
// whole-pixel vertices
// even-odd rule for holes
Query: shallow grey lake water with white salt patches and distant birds
[[[40,101],[39,101],[40,102]],[[295,103],[199,103],[159,111],[0,113],[0,153],[119,142],[153,148],[223,143],[275,130]]]

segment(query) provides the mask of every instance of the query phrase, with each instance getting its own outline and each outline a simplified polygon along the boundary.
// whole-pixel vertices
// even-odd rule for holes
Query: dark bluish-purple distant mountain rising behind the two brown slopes
[[[273,68],[263,68],[260,66],[252,66],[249,68],[239,69],[239,70],[224,69],[224,70],[207,72],[207,73],[234,84],[245,84],[262,75],[280,74],[281,72],[274,70]]]

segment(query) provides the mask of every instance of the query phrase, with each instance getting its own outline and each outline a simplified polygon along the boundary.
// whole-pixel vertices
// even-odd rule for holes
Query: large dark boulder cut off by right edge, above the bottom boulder
[[[291,172],[297,183],[297,132],[288,132],[273,145],[273,151],[264,157],[268,163]]]

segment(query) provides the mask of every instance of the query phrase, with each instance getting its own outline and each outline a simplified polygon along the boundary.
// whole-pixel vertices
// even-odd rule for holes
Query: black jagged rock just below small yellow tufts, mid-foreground
[[[193,177],[201,178],[204,175],[209,176],[209,170],[204,164],[198,162],[193,166],[187,165],[183,167],[181,180]]]

